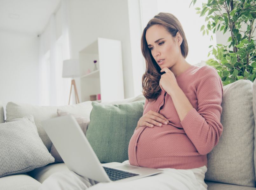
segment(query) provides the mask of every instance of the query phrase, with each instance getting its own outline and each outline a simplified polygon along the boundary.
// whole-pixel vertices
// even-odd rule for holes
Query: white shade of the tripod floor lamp
[[[63,61],[62,77],[74,78],[80,76],[80,66],[78,59],[70,59]]]

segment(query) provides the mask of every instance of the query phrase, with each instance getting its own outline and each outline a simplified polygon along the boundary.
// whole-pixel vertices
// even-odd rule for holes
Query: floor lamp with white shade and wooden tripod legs
[[[80,103],[79,98],[78,98],[77,89],[76,89],[76,83],[74,80],[74,77],[79,77],[79,76],[80,76],[79,60],[78,59],[64,60],[63,61],[63,69],[62,69],[62,77],[63,78],[72,78],[68,105],[70,104],[72,86],[74,86],[74,90],[75,90],[76,104]]]

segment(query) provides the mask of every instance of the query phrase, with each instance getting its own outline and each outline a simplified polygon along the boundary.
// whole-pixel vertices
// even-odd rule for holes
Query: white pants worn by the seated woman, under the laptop
[[[128,161],[123,163],[129,164]],[[160,174],[132,181],[98,183],[70,171],[54,173],[41,185],[39,190],[207,190],[204,182],[206,166],[193,169],[161,168]]]

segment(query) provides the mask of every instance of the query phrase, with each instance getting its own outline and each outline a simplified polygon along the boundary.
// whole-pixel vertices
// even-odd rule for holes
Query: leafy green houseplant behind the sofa
[[[195,5],[197,0],[192,0],[190,5]],[[214,66],[222,79],[223,85],[230,84],[239,79],[256,78],[256,1],[255,0],[208,0],[202,7],[195,8],[197,14],[205,17],[206,24],[201,27],[203,35],[209,31],[216,33],[218,30],[230,33],[229,46],[217,44],[209,52],[214,59],[206,61],[207,65]],[[211,40],[213,39],[211,35]]]

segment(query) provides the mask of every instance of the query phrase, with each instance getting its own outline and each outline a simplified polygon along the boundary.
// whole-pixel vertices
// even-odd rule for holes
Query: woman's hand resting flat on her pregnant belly
[[[136,129],[145,126],[150,128],[154,126],[162,127],[162,124],[167,125],[168,122],[168,119],[163,115],[157,113],[156,111],[150,110],[139,119]]]

